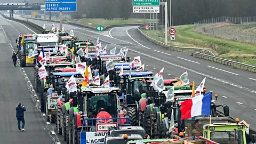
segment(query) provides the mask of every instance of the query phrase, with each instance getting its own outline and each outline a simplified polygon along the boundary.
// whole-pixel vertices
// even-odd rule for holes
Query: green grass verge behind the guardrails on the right
[[[174,46],[180,47],[198,47],[212,51],[217,57],[234,60],[248,65],[256,66],[256,48],[255,45],[243,42],[230,41],[218,37],[198,33],[194,31],[194,25],[174,26],[177,30]],[[151,38],[162,42],[162,29],[145,30],[143,33]],[[156,33],[158,37],[156,37]],[[170,35],[168,34],[168,44],[170,45]]]

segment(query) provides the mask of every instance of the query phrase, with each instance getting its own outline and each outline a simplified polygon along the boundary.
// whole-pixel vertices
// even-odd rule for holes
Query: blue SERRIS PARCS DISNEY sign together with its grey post
[[[62,11],[76,12],[77,0],[45,0],[45,11],[47,12],[60,12],[60,29],[62,29]],[[59,32],[59,31],[57,31]]]

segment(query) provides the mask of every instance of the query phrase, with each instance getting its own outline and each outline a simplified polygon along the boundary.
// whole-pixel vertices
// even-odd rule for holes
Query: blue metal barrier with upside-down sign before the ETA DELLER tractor
[[[131,120],[129,117],[119,118],[84,118],[82,131],[94,132],[94,131],[107,131],[109,127],[115,126],[131,126]]]

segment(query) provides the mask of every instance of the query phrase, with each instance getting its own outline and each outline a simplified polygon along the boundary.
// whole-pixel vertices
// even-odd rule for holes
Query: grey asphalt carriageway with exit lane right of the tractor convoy
[[[23,19],[17,15],[14,18]],[[38,20],[29,21],[37,25],[51,29],[52,22],[42,22]],[[92,38],[95,42],[99,37],[102,46],[107,45],[111,50],[121,46],[129,48],[128,56],[133,58],[140,55],[146,69],[155,69],[156,73],[163,67],[164,78],[179,77],[186,70],[188,71],[190,82],[195,81],[198,85],[206,77],[206,89],[218,94],[218,104],[229,106],[230,116],[244,119],[250,124],[250,128],[256,130],[254,123],[256,115],[256,75],[240,69],[233,69],[218,63],[197,59],[189,56],[189,53],[174,52],[165,50],[160,46],[148,42],[139,35],[136,27],[121,27],[108,31],[97,32],[83,27],[76,27],[63,24],[66,30],[74,30],[74,34],[82,39]],[[55,23],[59,27],[59,23]],[[18,35],[17,35],[18,36]],[[119,52],[119,51],[118,51]],[[222,109],[220,108],[222,111]]]

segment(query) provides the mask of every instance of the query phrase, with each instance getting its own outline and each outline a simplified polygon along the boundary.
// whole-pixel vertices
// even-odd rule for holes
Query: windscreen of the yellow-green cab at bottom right
[[[217,143],[235,143],[235,132],[234,131],[218,131],[211,132],[210,140]],[[236,131],[236,143],[243,143],[243,131]]]

